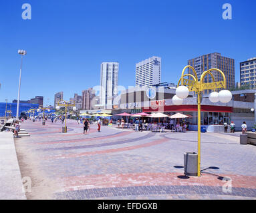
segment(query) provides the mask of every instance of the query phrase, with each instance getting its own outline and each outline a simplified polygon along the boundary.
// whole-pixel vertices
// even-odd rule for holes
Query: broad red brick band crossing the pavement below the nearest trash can
[[[90,188],[112,188],[128,186],[223,186],[226,181],[215,175],[203,174],[201,177],[178,178],[183,173],[137,173],[137,174],[101,174],[90,176],[69,176],[59,179],[63,191],[84,190]],[[256,188],[256,176],[219,174],[229,177],[233,187]]]

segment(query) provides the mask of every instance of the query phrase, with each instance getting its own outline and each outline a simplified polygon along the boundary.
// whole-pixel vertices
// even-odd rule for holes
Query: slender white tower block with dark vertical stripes
[[[118,68],[117,62],[103,62],[100,73],[100,105],[112,105],[118,95]]]

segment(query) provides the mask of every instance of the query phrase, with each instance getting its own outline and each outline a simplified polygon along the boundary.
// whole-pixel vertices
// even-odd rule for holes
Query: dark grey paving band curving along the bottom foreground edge
[[[220,186],[128,186],[115,188],[93,188],[86,190],[74,190],[59,192],[55,199],[95,199],[118,196],[145,196],[145,195],[228,195],[256,198],[256,189],[232,188],[232,192],[223,192]]]

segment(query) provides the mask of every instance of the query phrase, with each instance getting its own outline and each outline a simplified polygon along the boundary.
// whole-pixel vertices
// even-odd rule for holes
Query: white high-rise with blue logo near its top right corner
[[[153,56],[136,63],[136,86],[152,86],[161,83],[161,58]]]

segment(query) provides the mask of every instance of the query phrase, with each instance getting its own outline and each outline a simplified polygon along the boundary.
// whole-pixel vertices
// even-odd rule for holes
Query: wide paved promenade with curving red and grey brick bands
[[[256,146],[237,135],[202,133],[202,176],[184,176],[183,153],[197,152],[197,132],[134,132],[92,125],[24,122],[15,138],[28,199],[255,199]]]

